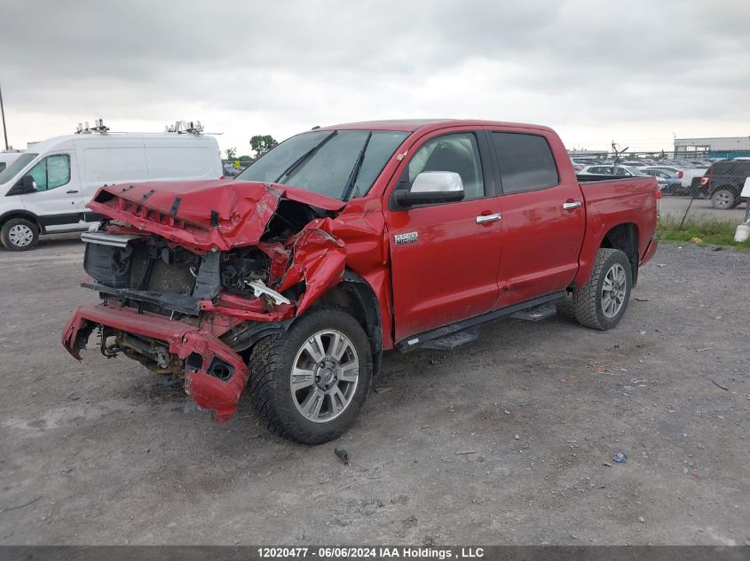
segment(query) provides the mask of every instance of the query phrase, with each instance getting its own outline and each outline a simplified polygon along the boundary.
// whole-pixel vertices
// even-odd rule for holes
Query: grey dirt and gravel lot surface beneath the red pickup
[[[82,250],[0,251],[0,544],[750,538],[750,255],[662,245],[615,331],[505,321],[388,355],[388,391],[308,448],[248,401],[213,425],[136,362],[68,356],[70,310],[97,300]]]

